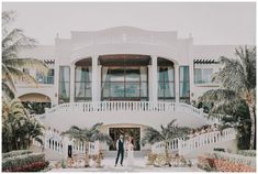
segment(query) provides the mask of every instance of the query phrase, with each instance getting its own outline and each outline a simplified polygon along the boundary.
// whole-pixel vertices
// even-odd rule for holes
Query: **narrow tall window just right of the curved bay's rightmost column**
[[[179,70],[180,99],[190,100],[189,66],[180,66]]]

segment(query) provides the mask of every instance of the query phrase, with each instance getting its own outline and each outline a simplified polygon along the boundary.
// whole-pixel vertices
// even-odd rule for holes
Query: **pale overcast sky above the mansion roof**
[[[3,3],[16,11],[12,26],[54,44],[56,33],[94,31],[119,25],[154,31],[178,31],[194,44],[255,44],[255,3]]]

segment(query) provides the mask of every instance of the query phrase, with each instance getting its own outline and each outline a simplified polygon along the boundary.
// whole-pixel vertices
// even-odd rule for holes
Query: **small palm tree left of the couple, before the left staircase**
[[[61,133],[61,135],[69,135],[70,138],[85,142],[86,145],[86,161],[85,166],[89,166],[89,155],[88,155],[88,144],[89,142],[101,141],[108,142],[109,144],[112,142],[112,139],[105,134],[100,132],[99,128],[102,126],[102,122],[93,124],[91,128],[78,128],[76,126],[70,127],[69,130]]]

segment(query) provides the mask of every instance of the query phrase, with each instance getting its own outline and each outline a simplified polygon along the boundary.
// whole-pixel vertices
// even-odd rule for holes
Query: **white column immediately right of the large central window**
[[[149,85],[152,85],[152,90],[149,89],[149,100],[157,102],[158,100],[158,63],[157,56],[152,55],[152,68],[150,68]]]

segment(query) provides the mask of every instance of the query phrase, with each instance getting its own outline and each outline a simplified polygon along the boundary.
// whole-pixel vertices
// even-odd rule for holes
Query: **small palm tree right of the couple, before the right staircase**
[[[168,145],[172,139],[176,138],[183,138],[186,137],[190,128],[187,127],[178,127],[176,123],[176,119],[171,120],[166,127],[160,126],[161,130],[158,131],[152,127],[146,128],[145,134],[142,139],[142,144],[145,145],[146,143],[154,144],[156,142],[164,142],[165,143],[165,156],[166,156],[166,164],[170,165],[169,162],[169,154],[168,154]]]

